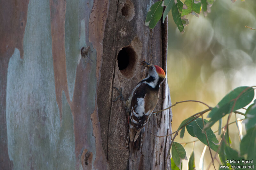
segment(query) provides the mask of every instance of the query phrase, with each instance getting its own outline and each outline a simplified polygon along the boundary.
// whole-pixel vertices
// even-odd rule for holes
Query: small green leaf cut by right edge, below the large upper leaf
[[[245,124],[246,131],[256,126],[256,104],[251,104],[245,112]]]

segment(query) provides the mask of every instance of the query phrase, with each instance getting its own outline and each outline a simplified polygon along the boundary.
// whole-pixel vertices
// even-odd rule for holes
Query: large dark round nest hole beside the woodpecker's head
[[[117,65],[126,78],[131,78],[134,72],[137,54],[131,46],[124,47],[117,55]]]

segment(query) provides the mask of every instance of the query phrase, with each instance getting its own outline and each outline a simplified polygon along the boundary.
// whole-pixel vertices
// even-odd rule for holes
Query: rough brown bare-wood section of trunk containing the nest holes
[[[166,73],[167,21],[158,22],[153,30],[144,25],[152,1],[110,1],[103,40],[103,63],[97,94],[101,138],[110,169],[165,169],[165,157],[170,139],[156,135],[171,133],[171,111],[153,114],[143,135],[143,146],[136,160],[125,148],[128,134],[127,118],[121,100],[111,102],[119,94],[113,87],[123,89],[128,98],[132,89],[147,71],[139,66],[143,59],[161,66]],[[161,85],[155,110],[171,104],[166,81]],[[167,169],[170,163],[167,163]]]

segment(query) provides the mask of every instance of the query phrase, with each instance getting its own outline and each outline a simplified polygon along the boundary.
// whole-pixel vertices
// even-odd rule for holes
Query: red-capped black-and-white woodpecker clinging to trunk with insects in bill
[[[161,67],[149,65],[145,60],[142,61],[142,65],[148,69],[148,77],[137,84],[126,101],[129,124],[126,147],[130,145],[130,151],[131,148],[140,150],[141,132],[156,107],[160,84],[165,79],[165,73]]]

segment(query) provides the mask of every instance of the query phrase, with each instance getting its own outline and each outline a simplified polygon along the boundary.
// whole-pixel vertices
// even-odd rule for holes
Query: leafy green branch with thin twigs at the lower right
[[[182,161],[182,159],[186,159],[186,157],[185,157],[186,152],[185,152],[184,148],[182,147],[182,145],[180,145],[180,143],[174,142],[174,140],[175,140],[176,136],[179,134],[180,130],[181,130],[180,137],[183,138],[184,132],[185,132],[185,127],[187,128],[187,131],[191,136],[197,138],[197,140],[192,141],[192,142],[196,142],[196,141],[200,140],[202,143],[204,143],[205,145],[208,146],[210,155],[212,158],[211,163],[212,163],[214,169],[216,169],[215,165],[214,165],[214,159],[216,159],[217,155],[219,155],[220,161],[223,165],[228,165],[225,162],[225,160],[227,160],[227,159],[233,159],[233,160],[241,160],[242,158],[244,159],[244,157],[242,156],[244,154],[248,154],[248,158],[250,158],[250,159],[256,159],[255,154],[253,154],[254,150],[251,149],[251,148],[256,149],[256,145],[255,145],[255,141],[256,141],[256,100],[247,109],[244,108],[246,105],[248,105],[252,102],[252,100],[255,96],[254,91],[255,91],[255,86],[238,87],[238,88],[230,91],[225,97],[223,97],[214,108],[210,107],[209,105],[205,104],[204,102],[200,102],[200,101],[196,101],[196,100],[186,100],[186,101],[176,102],[169,108],[166,108],[166,109],[170,109],[171,107],[175,106],[176,104],[180,104],[180,103],[184,103],[184,102],[198,102],[198,103],[202,103],[208,107],[208,109],[198,112],[198,113],[188,117],[187,119],[183,120],[181,122],[179,128],[172,134],[169,134],[169,135],[174,134],[174,136],[170,143],[169,151],[167,153],[165,162],[167,163],[167,159],[169,158],[171,148],[173,148],[172,145],[173,145],[173,143],[175,143],[175,149],[172,149],[172,159],[173,159],[173,162],[175,163],[175,165],[177,165],[178,168],[181,168],[181,161]],[[166,110],[166,109],[164,109],[164,110]],[[246,112],[245,113],[239,112],[239,111],[237,111],[238,109],[245,109]],[[163,111],[163,110],[161,110],[161,111]],[[157,112],[161,112],[161,111],[157,111]],[[209,121],[203,118],[203,114],[206,112],[209,112],[209,114],[208,114],[208,117],[210,118]],[[235,149],[230,147],[228,126],[230,124],[233,124],[236,122],[236,125],[238,128],[238,133],[240,133],[240,129],[239,129],[238,123],[237,123],[238,120],[229,123],[232,112],[235,114],[241,114],[241,115],[245,116],[245,118],[243,120],[245,121],[245,127],[246,127],[247,134],[244,136],[244,138],[242,138],[242,141],[240,144],[241,155],[238,155],[238,151],[236,151]],[[228,120],[227,120],[226,125],[224,127],[221,127],[221,124],[220,124],[219,130],[213,132],[211,129],[212,125],[215,124],[218,120],[221,120],[222,117],[227,114],[228,114]],[[220,132],[221,129],[223,129],[223,133],[221,134],[221,140],[219,142],[217,140],[216,136],[214,135],[214,133]],[[153,133],[151,133],[151,134],[153,134]],[[169,136],[169,135],[164,135],[164,136]],[[164,136],[157,136],[157,135],[155,135],[155,136],[159,137],[159,138],[164,137]],[[252,141],[251,139],[255,139],[255,141]],[[188,143],[192,143],[192,142],[188,142]],[[186,144],[187,143],[185,143],[185,145]],[[214,155],[214,157],[212,156],[211,149],[213,151],[216,151],[216,154]],[[242,151],[242,149],[243,149],[243,151]],[[184,154],[185,154],[185,156],[184,156]],[[193,153],[191,153],[190,157],[192,160],[191,160],[191,162],[189,161],[190,163],[188,166],[194,167]],[[218,162],[219,162],[219,160],[218,160]],[[242,165],[242,164],[240,164],[240,165]]]

